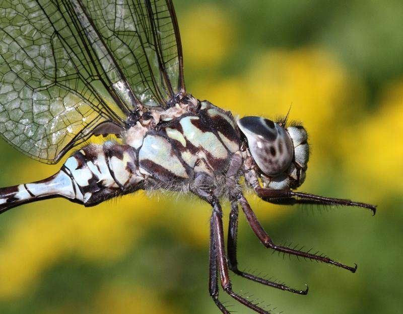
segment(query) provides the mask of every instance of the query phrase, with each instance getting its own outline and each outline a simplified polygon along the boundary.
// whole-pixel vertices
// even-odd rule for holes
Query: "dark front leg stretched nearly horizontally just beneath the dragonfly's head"
[[[341,205],[341,206],[353,206],[367,208],[372,212],[372,215],[376,213],[376,206],[361,202],[355,202],[350,199],[324,197],[309,193],[294,192],[292,190],[273,190],[266,189],[260,186],[255,186],[254,190],[257,195],[268,202],[275,204],[314,204],[314,205]]]

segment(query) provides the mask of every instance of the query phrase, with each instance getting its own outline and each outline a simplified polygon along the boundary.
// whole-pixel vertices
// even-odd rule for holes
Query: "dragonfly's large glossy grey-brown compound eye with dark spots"
[[[290,166],[294,148],[287,131],[279,124],[261,117],[244,117],[238,127],[245,135],[249,151],[260,170],[277,176]]]

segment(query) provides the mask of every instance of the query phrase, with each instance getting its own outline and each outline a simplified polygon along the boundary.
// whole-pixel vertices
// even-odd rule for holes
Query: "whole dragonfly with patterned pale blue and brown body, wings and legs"
[[[0,188],[0,213],[53,197],[93,206],[138,190],[195,194],[212,210],[209,292],[225,314],[220,285],[253,311],[271,313],[234,292],[230,270],[266,286],[308,292],[239,269],[239,207],[265,248],[356,271],[357,264],[278,245],[265,232],[243,185],[276,204],[356,206],[373,215],[376,207],[296,191],[309,159],[302,125],[287,117],[237,119],[187,92],[171,0],[13,0],[1,6],[0,133],[44,163],[74,152],[48,178]],[[93,136],[109,139],[86,144]],[[223,199],[231,207],[227,249]]]

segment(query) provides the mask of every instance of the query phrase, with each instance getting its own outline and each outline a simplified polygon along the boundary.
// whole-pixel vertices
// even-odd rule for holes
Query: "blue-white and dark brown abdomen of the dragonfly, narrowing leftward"
[[[43,198],[65,197],[86,206],[138,189],[139,174],[132,147],[106,142],[88,145],[69,157],[53,176],[0,189],[0,213]]]

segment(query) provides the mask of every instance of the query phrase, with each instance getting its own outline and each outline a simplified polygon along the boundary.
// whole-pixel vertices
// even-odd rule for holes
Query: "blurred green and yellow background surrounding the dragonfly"
[[[294,295],[232,274],[235,291],[274,312],[401,312],[403,5],[345,1],[175,0],[186,87],[235,115],[303,121],[312,147],[301,191],[377,204],[276,206],[248,195],[277,243],[292,241],[346,270],[264,249],[240,215],[240,269],[304,289]],[[0,185],[60,165],[0,142]],[[224,205],[228,223],[228,203]],[[64,199],[0,217],[0,313],[213,314],[209,205],[142,192],[85,208]],[[252,313],[221,292],[229,309]]]

